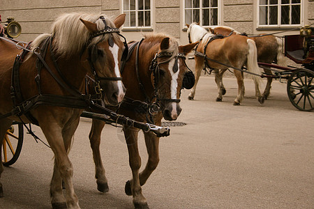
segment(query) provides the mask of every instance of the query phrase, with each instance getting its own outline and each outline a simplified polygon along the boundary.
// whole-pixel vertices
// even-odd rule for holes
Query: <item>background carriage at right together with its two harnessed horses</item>
[[[284,55],[301,65],[301,68],[284,66],[282,59],[283,43],[281,38],[273,34],[247,36],[234,31],[227,26],[218,26],[207,32],[197,23],[188,25],[190,42],[200,41],[195,49],[195,86],[193,86],[189,100],[193,100],[200,71],[207,69],[214,71],[215,82],[218,86],[216,101],[222,100],[225,94],[222,78],[225,70],[233,69],[238,82],[238,95],[234,105],[239,105],[244,98],[243,73],[253,75],[255,93],[262,104],[267,100],[272,79],[287,80],[287,95],[290,102],[301,111],[314,109],[314,28],[305,26],[300,29],[299,35],[283,36]],[[233,36],[234,35],[234,36]],[[252,40],[255,45],[252,45]],[[226,45],[226,43],[228,43]],[[227,55],[226,55],[227,54]],[[257,59],[256,59],[257,57]],[[194,59],[194,58],[193,58]],[[282,65],[276,65],[277,61]],[[264,72],[257,70],[257,65],[264,68]],[[273,73],[274,72],[274,73]],[[264,93],[259,90],[260,78],[267,78]]]

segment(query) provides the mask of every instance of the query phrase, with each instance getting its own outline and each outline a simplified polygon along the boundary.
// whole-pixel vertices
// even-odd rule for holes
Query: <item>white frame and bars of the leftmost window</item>
[[[129,8],[130,8],[130,0],[129,1]],[[143,8],[142,10],[139,10],[138,9],[138,0],[135,0],[135,26],[123,26],[123,30],[124,31],[151,31],[153,29],[153,0],[149,0],[150,1],[150,8],[149,8],[149,11],[150,11],[150,14],[151,14],[151,20],[150,20],[150,26],[138,26],[138,13],[140,11],[143,11],[143,13],[145,11],[148,11],[148,10],[145,10],[145,8]],[[124,0],[121,0],[121,10],[122,10],[122,13],[125,13],[125,10],[124,10]],[[126,10],[127,12],[130,12],[130,11],[134,11],[134,10]],[[127,21],[127,20],[126,20]]]

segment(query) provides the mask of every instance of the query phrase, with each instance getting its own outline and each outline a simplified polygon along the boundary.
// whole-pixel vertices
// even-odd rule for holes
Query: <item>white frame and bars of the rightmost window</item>
[[[274,6],[277,6],[277,24],[260,24],[260,7],[262,6],[271,6],[271,5],[274,5]],[[292,5],[300,5],[300,24],[281,24],[281,6],[283,5],[288,5],[288,6],[292,6]],[[290,21],[291,21],[291,14],[292,13],[292,10],[290,10],[290,14],[289,14],[289,18],[290,18]],[[281,0],[278,0],[278,2],[276,4],[263,4],[261,5],[260,4],[260,0],[257,1],[257,29],[285,29],[285,28],[295,28],[295,27],[300,27],[302,26],[302,24],[304,23],[304,0],[300,0],[300,3],[291,3],[291,0],[290,0],[290,3],[281,3]],[[269,22],[269,17],[267,17],[268,19],[268,22]]]

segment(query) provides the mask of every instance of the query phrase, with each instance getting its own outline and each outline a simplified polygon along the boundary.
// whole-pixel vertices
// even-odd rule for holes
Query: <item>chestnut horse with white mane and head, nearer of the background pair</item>
[[[195,84],[188,95],[189,100],[193,100],[195,96],[195,89],[200,72],[205,67],[214,69],[227,70],[232,66],[238,70],[234,70],[234,76],[237,78],[238,94],[234,99],[234,105],[239,105],[244,98],[244,78],[241,68],[246,65],[248,72],[253,75],[260,75],[260,68],[257,65],[257,49],[255,42],[245,36],[234,35],[225,38],[215,38],[214,34],[207,32],[202,26],[197,23],[186,24],[188,26],[189,42],[200,41],[195,49]],[[210,60],[209,60],[210,59]],[[217,77],[215,78],[218,86],[217,102],[223,99],[223,89],[220,88]],[[255,96],[262,104],[264,98],[260,95],[259,85],[261,78],[253,76],[255,83]]]

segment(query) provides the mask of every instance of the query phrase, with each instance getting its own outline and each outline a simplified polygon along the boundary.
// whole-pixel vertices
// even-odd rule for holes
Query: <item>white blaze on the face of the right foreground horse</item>
[[[179,77],[179,72],[180,72],[180,68],[179,68],[179,60],[177,62],[177,67],[178,70],[177,72],[173,72],[173,66],[174,66],[174,62],[175,59],[172,59],[169,62],[169,68],[168,70],[170,71],[170,75],[171,75],[171,84],[170,84],[170,92],[171,92],[171,98],[172,100],[177,100],[177,88],[178,88],[178,77]],[[177,102],[172,102],[172,111],[171,111],[171,116],[172,118],[177,119]]]

